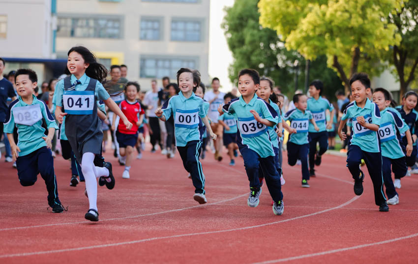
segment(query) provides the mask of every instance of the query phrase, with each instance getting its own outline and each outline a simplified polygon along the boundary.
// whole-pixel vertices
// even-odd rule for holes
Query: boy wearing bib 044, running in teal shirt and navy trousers
[[[302,187],[309,188],[309,170],[308,170],[308,126],[309,122],[314,127],[314,130],[319,131],[312,113],[307,108],[308,97],[304,94],[295,94],[293,96],[293,103],[295,109],[288,111],[283,119],[291,121],[289,131],[289,140],[287,142],[287,159],[290,166],[295,166],[298,159],[302,164]],[[292,134],[295,133],[295,134]]]

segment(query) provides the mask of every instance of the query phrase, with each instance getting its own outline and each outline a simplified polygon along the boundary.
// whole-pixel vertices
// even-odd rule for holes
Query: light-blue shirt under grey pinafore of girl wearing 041
[[[71,74],[71,84],[74,84],[76,80],[77,78],[75,77],[75,75]],[[81,76],[79,81],[81,82],[81,84],[76,85],[75,90],[84,91],[89,86],[90,77],[84,74],[83,76]],[[62,106],[62,94],[63,93],[64,93],[64,79],[60,80],[57,83],[57,86],[55,87],[54,96],[57,95],[55,97],[55,104],[57,106]],[[106,89],[103,87],[103,85],[99,81],[96,82],[96,89],[94,91],[94,97],[96,98],[96,100],[103,100],[103,101],[107,100],[110,97],[109,93],[106,91]]]

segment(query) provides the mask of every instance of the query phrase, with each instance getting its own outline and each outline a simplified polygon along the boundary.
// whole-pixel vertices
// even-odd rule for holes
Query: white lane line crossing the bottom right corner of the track
[[[412,234],[412,235],[401,236],[401,237],[397,237],[397,238],[393,238],[393,239],[389,239],[389,240],[369,243],[369,244],[357,245],[357,246],[353,246],[353,247],[338,248],[338,249],[333,249],[333,250],[328,250],[328,251],[323,251],[323,252],[318,252],[318,253],[300,255],[300,256],[284,258],[284,259],[277,259],[277,260],[271,260],[271,261],[256,262],[256,263],[252,263],[252,264],[271,264],[271,263],[278,263],[278,262],[300,260],[300,259],[311,258],[311,257],[316,257],[316,256],[323,256],[323,255],[328,255],[328,254],[333,254],[333,253],[338,253],[338,252],[343,252],[343,251],[348,251],[348,250],[353,250],[353,249],[358,249],[358,248],[363,248],[363,247],[370,247],[370,246],[387,244],[387,243],[396,242],[396,241],[403,240],[403,239],[409,239],[409,238],[413,238],[413,237],[417,237],[417,236],[418,236],[418,233]]]

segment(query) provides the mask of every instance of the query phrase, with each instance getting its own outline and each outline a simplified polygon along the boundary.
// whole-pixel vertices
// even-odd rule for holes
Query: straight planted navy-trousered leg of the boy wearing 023
[[[48,203],[50,205],[61,204],[58,199],[57,178],[54,173],[54,159],[52,152],[47,147],[41,147],[36,154],[37,169],[45,180],[46,189],[48,190]]]

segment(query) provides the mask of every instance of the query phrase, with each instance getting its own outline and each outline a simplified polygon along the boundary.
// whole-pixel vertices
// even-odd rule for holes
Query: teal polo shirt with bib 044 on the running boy
[[[288,111],[283,119],[290,121],[290,127],[296,129],[296,133],[290,135],[289,141],[297,145],[308,144],[309,120],[312,119],[312,113],[309,110],[305,112],[298,108]],[[316,131],[316,130],[315,130]]]

